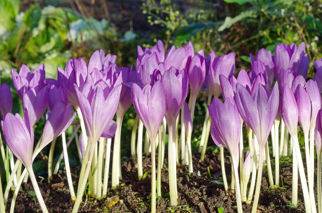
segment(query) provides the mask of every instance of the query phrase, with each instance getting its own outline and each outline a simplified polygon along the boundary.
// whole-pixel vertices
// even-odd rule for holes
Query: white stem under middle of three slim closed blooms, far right
[[[307,166],[307,171],[308,171],[308,192],[310,194],[310,201],[311,201],[311,206],[315,206],[315,198],[314,198],[314,189],[313,189],[313,179],[314,175],[312,176],[311,170],[314,169],[314,165],[312,167],[311,161],[310,161],[310,153],[309,153],[309,142],[308,142],[308,133],[304,133],[304,141],[305,141],[305,155],[306,155],[306,166]],[[313,145],[314,148],[314,145]],[[314,149],[313,149],[314,152]],[[314,211],[315,210],[315,211]],[[316,208],[312,208],[312,212],[316,212]]]

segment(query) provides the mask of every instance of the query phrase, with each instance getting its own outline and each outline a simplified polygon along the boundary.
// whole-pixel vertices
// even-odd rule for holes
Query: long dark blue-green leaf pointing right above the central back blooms
[[[189,39],[190,37],[194,36],[197,32],[213,25],[220,25],[223,24],[223,22],[206,22],[206,23],[193,23],[188,26],[183,27],[178,33],[177,33],[177,39],[184,40]]]

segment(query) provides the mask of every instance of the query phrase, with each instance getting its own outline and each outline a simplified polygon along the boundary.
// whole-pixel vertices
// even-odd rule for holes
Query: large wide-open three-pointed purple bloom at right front
[[[237,83],[234,100],[240,116],[254,131],[260,147],[264,148],[279,107],[278,85],[275,84],[269,94],[266,87],[258,84],[251,96]]]

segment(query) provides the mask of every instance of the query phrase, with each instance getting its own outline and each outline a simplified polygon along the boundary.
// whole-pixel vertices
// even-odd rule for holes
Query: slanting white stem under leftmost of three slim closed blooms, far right
[[[300,174],[300,180],[301,180],[301,185],[302,185],[305,211],[306,211],[306,213],[310,213],[310,212],[312,212],[313,209],[315,209],[315,205],[313,206],[313,208],[311,207],[310,196],[309,196],[309,193],[308,193],[308,185],[307,185],[307,182],[306,182],[307,180],[306,180],[306,177],[305,177],[305,172],[304,172],[304,167],[303,167],[303,162],[302,162],[302,156],[301,156],[301,151],[300,151],[300,147],[299,147],[299,144],[298,144],[297,135],[292,135],[292,139],[293,139],[293,147],[295,148],[294,151],[295,151],[295,154],[296,154],[296,159],[297,159],[297,162],[298,162],[298,171],[299,171],[299,174]]]

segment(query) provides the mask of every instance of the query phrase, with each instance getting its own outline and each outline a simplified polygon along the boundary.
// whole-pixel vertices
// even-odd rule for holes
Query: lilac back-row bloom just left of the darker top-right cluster
[[[254,64],[255,58],[251,53],[249,55],[251,57],[251,69],[254,70],[256,66]],[[260,60],[265,65],[267,77],[268,79],[270,79],[270,82],[273,82],[275,73],[274,73],[274,62],[272,59],[272,53],[262,48],[257,52],[256,60]]]

